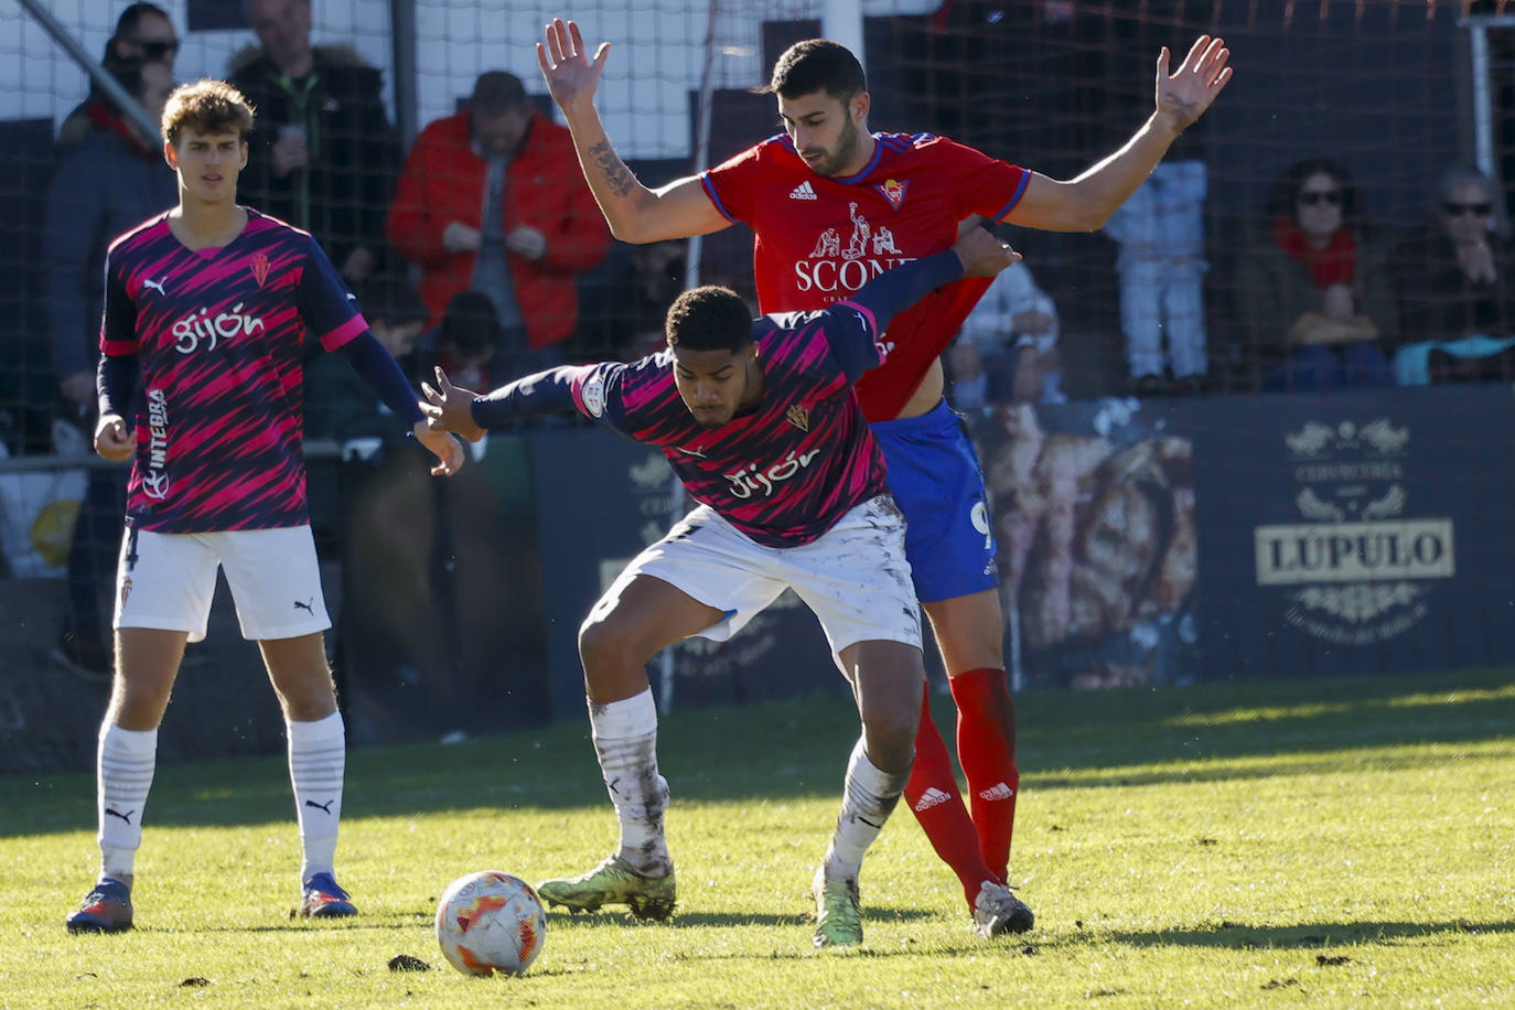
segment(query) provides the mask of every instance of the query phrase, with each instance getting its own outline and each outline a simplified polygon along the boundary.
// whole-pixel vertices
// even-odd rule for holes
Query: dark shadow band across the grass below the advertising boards
[[[1017,697],[1020,766],[1035,789],[1210,781],[1339,771],[1341,751],[1509,740],[1515,674],[1457,671],[1412,677],[1257,680],[1162,690],[1029,692]],[[950,698],[933,710],[951,736]],[[851,706],[830,697],[748,707],[676,710],[659,727],[661,771],[679,804],[841,798],[857,736]],[[588,724],[556,724],[461,743],[358,748],[348,754],[347,818],[477,812],[509,816],[600,809],[614,815]],[[1512,743],[1510,747],[1515,747]],[[1229,759],[1320,754],[1271,766]],[[1373,754],[1376,766],[1412,766],[1415,756]],[[1153,768],[1153,766],[1159,768]],[[1139,771],[1136,771],[1139,768]],[[1104,774],[1071,775],[1080,769]],[[1132,771],[1124,771],[1132,769]],[[0,837],[94,830],[92,775],[0,778]],[[282,756],[164,765],[147,824],[289,822]],[[907,816],[901,815],[900,816]]]

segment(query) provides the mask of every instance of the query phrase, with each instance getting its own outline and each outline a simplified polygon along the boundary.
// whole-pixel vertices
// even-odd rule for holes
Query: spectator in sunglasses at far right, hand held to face
[[[1494,206],[1483,173],[1451,168],[1438,180],[1429,220],[1394,251],[1400,385],[1515,374],[1515,250],[1497,230]]]

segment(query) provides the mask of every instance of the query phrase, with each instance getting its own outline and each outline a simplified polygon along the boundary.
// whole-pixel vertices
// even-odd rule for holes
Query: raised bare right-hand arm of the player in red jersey
[[[1177,71],[1168,74],[1170,53],[1157,55],[1157,104],[1126,144],[1077,177],[1059,182],[1032,173],[1026,194],[1004,218],[1047,232],[1092,232],[1136,192],[1168,147],[1215,101],[1230,82],[1226,41],[1201,35]]]

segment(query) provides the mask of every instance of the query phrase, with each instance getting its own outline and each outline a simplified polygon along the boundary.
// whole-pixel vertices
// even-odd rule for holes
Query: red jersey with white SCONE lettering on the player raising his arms
[[[1001,220],[1030,173],[930,133],[874,133],[856,176],[820,176],[788,135],[771,136],[701,176],[730,221],[753,229],[761,312],[821,309],[870,279],[957,239],[970,215]],[[882,368],[857,383],[868,421],[892,421],[989,286],[971,277],[894,316]]]

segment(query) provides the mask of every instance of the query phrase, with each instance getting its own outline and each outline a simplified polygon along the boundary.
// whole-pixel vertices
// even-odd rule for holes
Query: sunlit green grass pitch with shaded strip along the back
[[[353,751],[338,869],[362,915],[330,924],[291,918],[280,757],[159,768],[123,936],[62,928],[97,860],[91,777],[0,778],[0,1007],[1515,1005],[1515,672],[1018,709],[1021,937],[971,933],[900,809],[864,866],[864,949],[812,949],[856,716],[803,700],[665,716],[679,913],[553,912],[524,978],[447,968],[432,913],[465,872],[611,849],[586,724]]]

